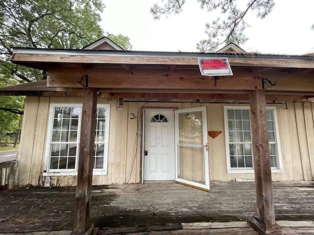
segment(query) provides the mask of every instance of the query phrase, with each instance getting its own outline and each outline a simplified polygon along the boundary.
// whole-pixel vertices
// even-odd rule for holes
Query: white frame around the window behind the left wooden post
[[[77,140],[77,154],[76,154],[76,167],[75,169],[50,169],[51,160],[51,139],[52,139],[52,126],[53,126],[53,114],[55,107],[80,107],[82,111],[82,104],[80,103],[52,103],[49,108],[48,126],[47,126],[47,138],[46,138],[46,150],[44,161],[43,176],[65,176],[65,175],[77,175],[78,174],[78,152],[79,152],[79,139],[80,139],[80,127],[81,127],[81,112],[78,117],[78,140]],[[108,145],[109,145],[109,126],[110,126],[110,104],[97,104],[97,107],[106,108],[105,116],[105,141],[104,141],[104,167],[102,169],[93,169],[93,175],[107,175],[108,167]],[[95,142],[96,143],[96,142]],[[99,142],[97,142],[99,143]]]

